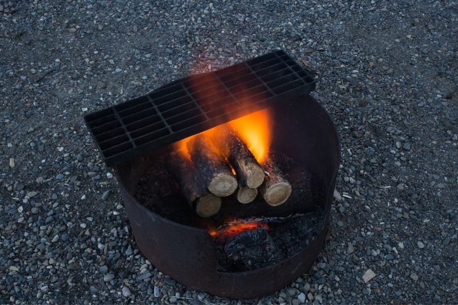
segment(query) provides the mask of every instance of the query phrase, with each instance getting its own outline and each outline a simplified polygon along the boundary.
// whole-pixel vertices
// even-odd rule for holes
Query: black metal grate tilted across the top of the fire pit
[[[108,166],[138,157],[315,87],[283,51],[186,77],[84,116]]]

